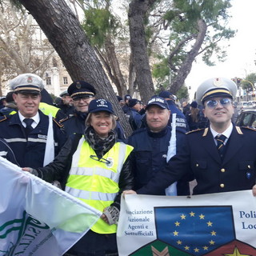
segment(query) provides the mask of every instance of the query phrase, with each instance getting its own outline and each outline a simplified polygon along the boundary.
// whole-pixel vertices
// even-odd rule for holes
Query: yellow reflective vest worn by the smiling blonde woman
[[[103,212],[118,194],[122,166],[132,150],[132,146],[116,142],[103,156],[107,161],[103,158],[98,161],[96,153],[82,136],[73,155],[66,192]],[[117,226],[110,226],[99,218],[91,230],[99,234],[112,234],[116,233]]]

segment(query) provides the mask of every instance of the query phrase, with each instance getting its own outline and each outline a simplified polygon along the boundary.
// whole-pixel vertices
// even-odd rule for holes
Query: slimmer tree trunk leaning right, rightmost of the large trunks
[[[190,70],[192,68],[192,63],[194,59],[197,57],[200,47],[202,46],[202,42],[206,36],[207,25],[202,19],[198,20],[198,36],[194,43],[194,46],[187,54],[185,62],[182,63],[181,68],[178,70],[177,77],[174,79],[170,86],[170,92],[176,94],[177,91],[183,86],[188,74],[190,74]]]

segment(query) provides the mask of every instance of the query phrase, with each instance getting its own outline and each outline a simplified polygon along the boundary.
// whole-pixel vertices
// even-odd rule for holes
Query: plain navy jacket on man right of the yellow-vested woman
[[[185,136],[186,134],[176,131],[177,153],[181,150]],[[128,144],[134,146],[134,150],[130,154],[130,161],[134,173],[135,190],[145,186],[167,165],[166,157],[170,137],[171,128],[166,126],[159,133],[152,133],[149,128],[136,130],[128,139]],[[162,187],[158,194],[165,194],[166,187]],[[178,182],[177,192],[178,195],[190,194],[186,179]]]

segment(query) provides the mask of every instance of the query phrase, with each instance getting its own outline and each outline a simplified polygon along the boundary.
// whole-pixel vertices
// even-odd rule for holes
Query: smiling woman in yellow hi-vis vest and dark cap
[[[129,155],[133,150],[118,142],[114,111],[105,99],[89,105],[86,130],[70,137],[48,166],[29,170],[47,182],[61,181],[66,192],[102,211],[101,218],[70,250],[77,256],[118,255],[116,230],[123,190],[134,186]]]

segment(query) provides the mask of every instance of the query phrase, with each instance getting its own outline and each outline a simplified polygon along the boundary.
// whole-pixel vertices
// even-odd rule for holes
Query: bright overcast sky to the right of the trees
[[[186,86],[191,86],[191,95],[198,85],[208,78],[226,77],[245,78],[246,74],[256,73],[256,0],[232,0],[230,8],[230,27],[238,30],[236,36],[227,42],[226,62],[208,67],[205,64],[194,63],[186,79]]]

